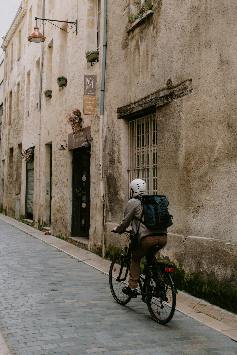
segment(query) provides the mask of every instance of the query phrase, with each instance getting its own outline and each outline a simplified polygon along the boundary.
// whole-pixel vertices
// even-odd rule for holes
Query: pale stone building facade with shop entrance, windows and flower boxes
[[[2,213],[38,229],[48,227],[53,235],[82,236],[87,244],[89,239],[92,246],[101,245],[99,106],[102,60],[87,62],[85,58],[86,51],[98,49],[100,53],[103,48],[101,1],[67,1],[62,15],[63,7],[65,9],[63,0],[23,0],[2,43],[6,85],[0,152],[1,179],[4,180],[1,209]],[[39,31],[46,40],[31,43],[27,37],[36,26],[35,17],[77,20],[78,33],[74,24],[37,20]],[[93,115],[84,114],[84,75],[92,77],[96,89]],[[66,86],[58,86],[59,76],[67,78]],[[44,95],[47,89],[51,90],[51,98]],[[67,122],[68,113],[74,108],[82,114],[83,131],[79,133],[83,139],[79,133],[73,135]],[[90,137],[93,138],[91,149],[81,147],[86,138],[90,142]],[[58,150],[61,146],[65,150]],[[33,149],[33,159],[26,163],[19,154],[25,155],[29,148]],[[79,196],[75,190],[84,193]]]

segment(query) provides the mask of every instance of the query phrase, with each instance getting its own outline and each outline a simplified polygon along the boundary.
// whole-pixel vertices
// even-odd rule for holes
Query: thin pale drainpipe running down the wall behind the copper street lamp
[[[44,18],[45,0],[42,1],[42,18]],[[44,35],[44,24],[42,22],[42,34]],[[44,46],[41,43],[41,58],[40,58],[40,77],[39,77],[39,115],[38,115],[38,137],[37,137],[37,219],[36,226],[38,227],[39,221],[39,153],[40,153],[40,128],[41,128],[41,92],[42,92],[42,73],[43,73],[43,57]]]

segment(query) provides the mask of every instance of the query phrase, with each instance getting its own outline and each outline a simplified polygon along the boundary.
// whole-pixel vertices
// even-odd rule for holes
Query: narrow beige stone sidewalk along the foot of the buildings
[[[34,237],[37,237],[38,239],[43,240],[47,244],[54,246],[59,251],[63,251],[67,253],[73,258],[76,258],[77,260],[82,261],[83,263],[89,266],[92,266],[93,268],[101,271],[102,273],[108,274],[109,272],[110,262],[107,260],[103,260],[101,257],[91,253],[90,251],[80,249],[79,247],[71,245],[68,242],[64,240],[60,240],[54,236],[44,235],[44,232],[38,231],[32,227],[29,227],[28,225],[18,222],[17,220],[14,220],[10,217],[6,217],[5,215],[0,214],[0,219],[12,226],[15,226],[16,228],[24,231],[27,234],[30,234]],[[192,297],[181,291],[179,291],[177,296],[178,297],[177,297],[176,309],[179,312],[182,312],[183,314],[188,315],[189,317],[198,320],[202,324],[205,324],[206,326],[209,326],[215,329],[216,331],[224,335],[227,335],[231,339],[237,341],[237,316],[236,315],[227,312],[225,310],[222,310],[219,307],[212,306],[208,304],[208,302]],[[144,305],[142,306],[144,307]],[[108,354],[108,352],[106,353]],[[1,355],[12,354],[3,335],[0,336],[0,354]],[[183,353],[176,352],[173,354],[183,354]],[[220,354],[220,353],[216,353],[216,354]]]

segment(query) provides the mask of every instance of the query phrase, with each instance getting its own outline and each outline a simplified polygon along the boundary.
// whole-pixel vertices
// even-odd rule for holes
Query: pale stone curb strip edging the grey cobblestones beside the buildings
[[[0,214],[0,219],[3,220],[4,222],[22,230],[23,232],[32,235],[38,239],[43,240],[45,243],[50,244],[54,246],[55,248],[67,253],[68,255],[76,258],[77,260],[80,260],[84,262],[85,264],[92,266],[93,268],[103,272],[104,274],[109,274],[109,267],[111,262],[105,259],[102,259],[98,255],[85,250],[81,249],[73,244],[70,244],[66,242],[65,240],[61,240],[57,237],[54,237],[52,235],[44,235],[44,232],[39,231],[37,229],[34,229],[33,227],[28,226],[27,224],[24,224],[22,222],[19,222],[11,217],[7,217],[3,214]],[[179,295],[179,294],[178,294]],[[179,302],[178,300],[178,295],[177,295],[177,301],[176,301],[176,310],[191,317],[194,318],[195,320],[205,324],[206,326],[215,329],[217,332],[220,332],[227,337],[235,340],[237,342],[237,329],[233,328],[231,326],[228,326],[228,324],[223,323],[219,320],[216,320],[215,318],[212,318],[205,313],[202,313],[198,310],[195,310],[192,307],[189,307],[182,302]],[[220,309],[221,310],[221,309]],[[6,340],[3,337],[3,335],[0,332],[0,345],[1,345],[1,338],[3,339],[4,343],[6,344]],[[12,354],[11,350],[9,347],[6,347],[7,351],[10,352],[2,352],[5,351],[4,348],[0,348],[0,355],[5,355],[5,354]]]

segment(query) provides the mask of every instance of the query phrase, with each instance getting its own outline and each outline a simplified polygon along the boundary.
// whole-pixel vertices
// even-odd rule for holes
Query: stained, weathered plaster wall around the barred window
[[[108,4],[107,244],[114,243],[109,231],[128,200],[126,120],[145,116],[155,105],[158,192],[167,195],[174,216],[162,257],[204,275],[210,274],[210,261],[212,277],[222,280],[227,261],[229,269],[236,266],[235,1],[156,1],[154,14],[129,33],[130,2],[116,3],[116,13],[114,6]],[[187,94],[169,96],[187,81]],[[167,100],[159,101],[165,92]],[[231,272],[226,277],[230,280]]]

